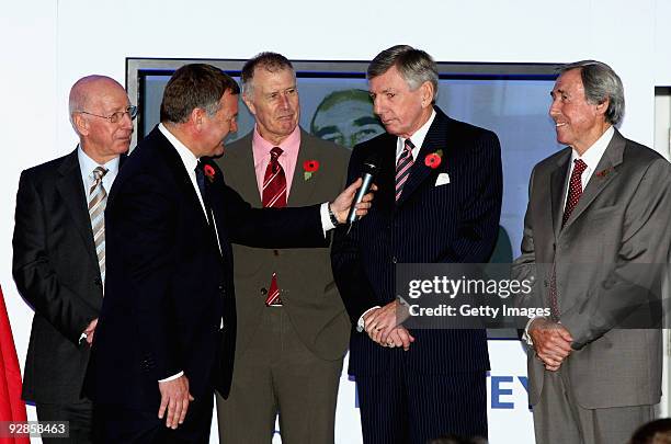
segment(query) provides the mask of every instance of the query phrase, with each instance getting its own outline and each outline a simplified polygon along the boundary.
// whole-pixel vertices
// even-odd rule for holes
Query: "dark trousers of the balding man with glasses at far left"
[[[93,441],[93,406],[90,400],[70,403],[36,402],[37,420],[67,421],[69,437],[43,437],[44,444],[89,444]]]

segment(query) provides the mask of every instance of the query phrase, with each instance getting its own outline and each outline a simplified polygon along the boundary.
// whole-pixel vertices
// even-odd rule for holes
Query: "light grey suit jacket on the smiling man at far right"
[[[534,277],[536,285],[522,304],[547,300],[554,267],[560,321],[577,349],[561,368],[569,373],[578,402],[589,409],[657,403],[661,331],[617,326],[659,298],[659,271],[671,243],[671,166],[615,129],[561,229],[570,158],[566,148],[532,173],[522,255],[513,275]],[[545,369],[533,353],[528,376],[534,405],[543,392]]]

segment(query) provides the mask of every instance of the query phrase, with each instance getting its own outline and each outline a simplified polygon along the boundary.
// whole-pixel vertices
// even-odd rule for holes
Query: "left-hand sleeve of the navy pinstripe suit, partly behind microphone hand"
[[[348,169],[348,183],[354,182],[361,174],[359,152],[360,150],[354,148]],[[379,305],[363,267],[360,236],[359,224],[354,224],[349,234],[346,225],[340,226],[333,231],[331,246],[331,267],[336,285],[354,326],[367,309]]]

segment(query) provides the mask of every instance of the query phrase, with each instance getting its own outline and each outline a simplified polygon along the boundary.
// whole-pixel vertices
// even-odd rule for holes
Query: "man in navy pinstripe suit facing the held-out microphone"
[[[332,247],[336,282],[357,326],[350,374],[356,376],[364,442],[485,436],[485,330],[409,331],[399,325],[395,264],[487,262],[501,209],[499,140],[434,106],[437,71],[422,50],[386,49],[367,77],[387,134],[354,148],[349,178],[375,158],[379,191],[369,215],[349,235],[337,229]]]

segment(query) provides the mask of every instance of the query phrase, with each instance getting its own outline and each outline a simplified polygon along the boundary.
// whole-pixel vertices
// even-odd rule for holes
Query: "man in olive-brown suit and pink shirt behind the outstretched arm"
[[[350,151],[298,127],[291,61],[262,53],[244,65],[241,80],[257,124],[219,160],[227,183],[254,207],[305,205],[342,190]],[[277,148],[282,151],[273,160]],[[285,192],[272,202],[266,172],[274,162]],[[333,283],[329,250],[234,246],[234,259],[236,291],[242,297],[236,304],[231,392],[227,400],[217,398],[221,442],[271,443],[278,413],[283,441],[332,443],[351,326]],[[272,300],[275,289],[278,297]]]

